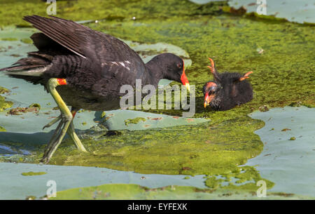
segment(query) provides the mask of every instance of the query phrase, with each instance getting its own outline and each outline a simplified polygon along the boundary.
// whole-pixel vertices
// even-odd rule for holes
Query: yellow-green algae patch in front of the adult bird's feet
[[[255,182],[263,179],[255,168],[241,165],[262,151],[262,142],[253,131],[263,125],[262,121],[244,116],[222,123],[209,121],[195,126],[124,130],[119,135],[103,133],[99,138],[82,140],[89,151],[87,154],[78,152],[70,140],[65,140],[50,164],[98,166],[137,173],[207,175],[205,183],[211,189],[223,188],[223,179],[213,179],[221,175],[241,180],[237,187],[230,184],[231,189],[241,189],[244,185],[244,189],[255,190]],[[36,154],[22,162],[38,163],[43,149],[44,146],[38,147]],[[240,167],[246,170],[241,172]],[[273,186],[272,182],[267,183],[268,188]]]

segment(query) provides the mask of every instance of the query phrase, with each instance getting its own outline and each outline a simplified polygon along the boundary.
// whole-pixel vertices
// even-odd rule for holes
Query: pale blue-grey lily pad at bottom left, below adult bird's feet
[[[45,175],[24,176],[27,172],[45,172]],[[27,196],[41,197],[47,192],[47,182],[54,180],[57,191],[76,187],[91,187],[104,184],[137,184],[157,188],[181,185],[205,188],[204,176],[196,175],[147,175],[108,168],[83,166],[52,166],[30,163],[0,163],[0,199],[26,199]]]

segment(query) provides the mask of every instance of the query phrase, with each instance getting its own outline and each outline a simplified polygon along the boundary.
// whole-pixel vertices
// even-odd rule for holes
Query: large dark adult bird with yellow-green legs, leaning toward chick
[[[43,128],[60,121],[43,155],[47,163],[66,132],[80,151],[86,152],[74,132],[73,117],[78,109],[120,108],[120,86],[158,86],[160,79],[183,83],[189,90],[183,60],[162,53],[144,64],[139,55],[115,37],[94,31],[71,20],[51,16],[25,16],[41,33],[31,35],[38,51],[28,53],[0,71],[31,83],[41,83],[57,102],[61,115]],[[71,106],[69,111],[66,105]]]

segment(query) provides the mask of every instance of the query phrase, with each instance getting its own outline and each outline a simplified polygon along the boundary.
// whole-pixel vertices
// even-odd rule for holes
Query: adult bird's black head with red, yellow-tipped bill
[[[159,69],[160,74],[162,74],[160,76],[161,79],[178,81],[190,91],[188,78],[185,74],[184,62],[179,56],[173,53],[162,53],[155,56],[147,65],[153,67],[153,69]]]

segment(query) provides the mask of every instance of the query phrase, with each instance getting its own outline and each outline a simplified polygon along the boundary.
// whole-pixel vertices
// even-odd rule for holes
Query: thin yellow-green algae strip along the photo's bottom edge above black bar
[[[225,189],[211,190],[196,187],[167,186],[147,188],[139,185],[101,185],[97,187],[80,187],[57,192],[56,197],[50,200],[162,200],[162,199],[314,199],[308,196],[295,194],[268,192],[266,197],[260,198],[256,192],[241,190],[227,191]]]

